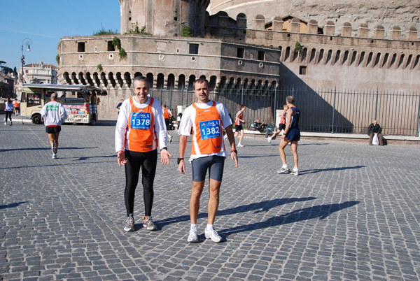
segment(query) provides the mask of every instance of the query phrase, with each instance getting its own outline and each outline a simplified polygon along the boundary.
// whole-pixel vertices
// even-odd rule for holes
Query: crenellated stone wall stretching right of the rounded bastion
[[[246,28],[249,21],[253,29]],[[232,19],[225,12],[209,16],[208,22],[207,34],[216,38],[236,38],[279,50],[283,66],[280,85],[304,82],[309,87],[420,90],[416,79],[420,41],[415,27],[403,36],[397,25],[386,30],[380,24],[373,28],[360,24],[354,33],[349,22],[337,28],[330,20],[321,29],[316,20],[305,23],[292,18],[283,22],[281,17],[274,17],[267,21],[262,15],[248,20],[243,13]],[[339,35],[335,35],[337,30]],[[296,43],[300,44],[299,52],[295,52]]]

